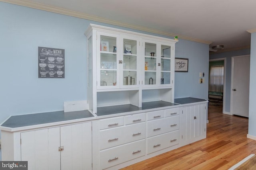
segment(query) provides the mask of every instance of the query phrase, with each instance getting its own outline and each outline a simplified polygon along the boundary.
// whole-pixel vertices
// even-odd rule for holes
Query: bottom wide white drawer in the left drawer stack
[[[100,169],[105,169],[145,155],[145,139],[100,151]]]

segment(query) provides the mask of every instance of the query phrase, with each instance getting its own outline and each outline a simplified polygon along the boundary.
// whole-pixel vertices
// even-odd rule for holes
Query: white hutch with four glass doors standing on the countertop
[[[90,24],[88,106],[174,102],[176,40]],[[149,95],[153,94],[153,95]]]

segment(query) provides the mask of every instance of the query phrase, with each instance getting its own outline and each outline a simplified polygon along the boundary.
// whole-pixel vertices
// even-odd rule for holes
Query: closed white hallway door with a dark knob
[[[231,100],[232,115],[249,117],[250,55],[232,57]]]

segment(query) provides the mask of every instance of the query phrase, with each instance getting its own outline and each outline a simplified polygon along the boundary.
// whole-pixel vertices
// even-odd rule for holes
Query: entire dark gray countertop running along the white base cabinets
[[[131,104],[98,107],[96,115],[107,116],[107,115],[113,115],[116,113],[141,111],[141,110],[155,109],[155,108],[168,107],[168,106],[178,106],[179,104],[190,104],[190,103],[206,102],[206,101],[207,100],[198,99],[198,98],[178,98],[178,99],[174,99],[174,103],[164,102],[164,101],[144,102],[142,103],[142,107],[137,107]],[[54,123],[54,122],[83,119],[83,118],[90,118],[90,117],[94,117],[94,115],[92,115],[92,113],[90,113],[90,111],[88,110],[71,111],[66,113],[64,113],[64,111],[52,111],[52,112],[45,112],[45,113],[14,115],[14,116],[11,116],[9,119],[7,119],[4,123],[2,123],[1,126],[8,127],[8,128],[16,128],[16,127],[40,125],[45,123]]]

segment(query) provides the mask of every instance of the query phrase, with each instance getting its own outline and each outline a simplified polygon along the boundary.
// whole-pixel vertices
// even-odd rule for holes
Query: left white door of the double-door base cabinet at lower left
[[[20,133],[21,160],[28,170],[60,170],[60,128]]]

